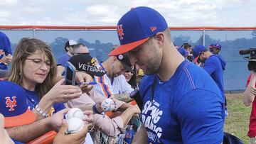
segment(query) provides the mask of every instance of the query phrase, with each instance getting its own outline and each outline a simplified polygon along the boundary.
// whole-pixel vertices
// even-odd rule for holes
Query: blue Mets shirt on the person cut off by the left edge
[[[12,55],[11,52],[11,43],[9,38],[0,31],[0,69],[7,70],[7,66],[4,65],[3,58],[8,56],[9,54]]]

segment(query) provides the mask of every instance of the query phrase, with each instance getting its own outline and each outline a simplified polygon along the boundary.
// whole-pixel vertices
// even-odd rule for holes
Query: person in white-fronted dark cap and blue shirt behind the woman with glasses
[[[68,40],[65,43],[66,53],[58,59],[58,65],[62,65],[63,67],[65,67],[65,63],[68,62],[70,57],[72,57],[74,55],[73,47],[74,47],[74,45],[77,45],[77,44],[78,43],[75,40]]]

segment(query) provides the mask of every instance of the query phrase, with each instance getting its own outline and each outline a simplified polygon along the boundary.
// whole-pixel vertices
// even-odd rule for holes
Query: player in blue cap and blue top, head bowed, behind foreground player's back
[[[215,83],[218,85],[221,94],[225,97],[223,87],[223,71],[225,70],[225,61],[220,55],[214,55],[203,45],[196,45],[192,50],[193,56],[198,57],[203,62],[203,69],[210,74]],[[225,97],[225,116],[228,116],[228,105]]]

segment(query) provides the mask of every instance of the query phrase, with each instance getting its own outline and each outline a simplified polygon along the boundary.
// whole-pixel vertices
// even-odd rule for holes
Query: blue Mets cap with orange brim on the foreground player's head
[[[166,20],[156,10],[146,6],[131,9],[117,23],[120,46],[112,50],[109,56],[133,50],[166,28],[168,28]]]

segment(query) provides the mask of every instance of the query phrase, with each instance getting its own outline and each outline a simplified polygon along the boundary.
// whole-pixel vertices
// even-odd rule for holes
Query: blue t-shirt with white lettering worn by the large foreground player
[[[148,143],[222,143],[224,99],[200,67],[184,60],[166,82],[146,75],[139,93]]]

